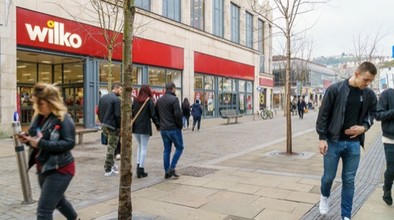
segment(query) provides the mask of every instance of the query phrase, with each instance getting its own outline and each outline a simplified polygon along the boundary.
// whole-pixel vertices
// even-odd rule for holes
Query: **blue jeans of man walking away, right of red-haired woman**
[[[164,171],[167,173],[169,169],[175,169],[176,164],[178,163],[178,160],[182,155],[183,152],[182,131],[181,129],[161,130],[160,134],[164,144],[164,152],[163,152]],[[170,165],[171,148],[173,143],[175,145],[175,153],[174,156],[172,157],[172,161]]]

